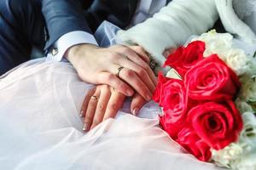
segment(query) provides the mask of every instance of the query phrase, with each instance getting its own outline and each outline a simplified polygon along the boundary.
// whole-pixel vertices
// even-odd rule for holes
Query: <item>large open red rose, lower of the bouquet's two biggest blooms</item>
[[[215,150],[235,142],[242,128],[241,114],[231,100],[197,105],[189,111],[188,120],[198,136]]]

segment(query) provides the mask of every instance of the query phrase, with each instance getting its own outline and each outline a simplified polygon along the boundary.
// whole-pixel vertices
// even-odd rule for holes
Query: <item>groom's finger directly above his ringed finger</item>
[[[139,77],[144,82],[144,84],[147,86],[150,92],[151,93],[154,92],[154,88],[155,88],[154,82],[150,79],[150,77],[148,76],[148,72],[143,67],[141,67],[140,65],[137,65],[136,63],[132,62],[130,59],[127,59],[125,57],[120,58],[118,62],[119,62],[119,65],[122,65],[125,68],[130,69],[131,71],[135,71],[137,74],[137,77]],[[145,64],[144,61],[143,63]]]

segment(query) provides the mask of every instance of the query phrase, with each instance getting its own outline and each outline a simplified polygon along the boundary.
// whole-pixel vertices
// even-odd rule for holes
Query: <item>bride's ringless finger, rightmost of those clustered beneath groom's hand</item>
[[[114,118],[118,113],[119,109],[123,106],[124,101],[124,94],[120,94],[119,92],[113,92],[108,101],[107,109],[103,120],[107,120],[108,118]]]

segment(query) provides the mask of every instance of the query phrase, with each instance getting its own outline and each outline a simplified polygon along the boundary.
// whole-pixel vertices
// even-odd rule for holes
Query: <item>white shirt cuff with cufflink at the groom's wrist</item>
[[[49,50],[47,59],[61,61],[67,49],[81,43],[91,43],[98,45],[95,37],[85,31],[71,31],[61,36]]]

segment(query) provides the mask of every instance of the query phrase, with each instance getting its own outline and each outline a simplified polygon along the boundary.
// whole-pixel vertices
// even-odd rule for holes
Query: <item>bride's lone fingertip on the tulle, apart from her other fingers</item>
[[[136,116],[146,102],[147,101],[143,99],[143,96],[140,94],[134,94],[131,99],[131,113]]]

